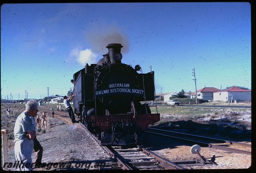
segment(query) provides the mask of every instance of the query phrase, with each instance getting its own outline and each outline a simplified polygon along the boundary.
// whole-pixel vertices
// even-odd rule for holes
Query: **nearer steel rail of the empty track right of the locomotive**
[[[245,150],[240,150],[240,149],[235,149],[235,148],[228,148],[228,147],[223,147],[223,146],[219,146],[219,145],[212,145],[212,144],[208,144],[208,143],[204,143],[204,142],[200,142],[200,141],[193,141],[193,140],[188,140],[188,139],[184,139],[184,138],[178,138],[175,136],[169,136],[169,135],[165,135],[165,134],[161,134],[161,133],[154,133],[154,132],[148,132],[145,131],[147,133],[153,133],[153,134],[158,134],[158,135],[162,135],[162,136],[167,136],[167,137],[171,137],[171,138],[175,138],[175,139],[179,139],[179,140],[183,140],[183,141],[188,141],[188,142],[193,142],[194,144],[200,144],[202,147],[208,147],[208,148],[216,148],[216,149],[221,149],[221,150],[225,150],[225,151],[231,151],[231,152],[235,152],[235,153],[241,153],[241,154],[247,154],[247,155],[251,155],[252,152],[250,151],[245,151]]]

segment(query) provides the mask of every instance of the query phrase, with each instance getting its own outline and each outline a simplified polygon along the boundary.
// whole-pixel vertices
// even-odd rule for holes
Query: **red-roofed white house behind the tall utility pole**
[[[204,87],[200,90],[197,90],[197,98],[201,98],[203,100],[213,100],[213,92],[221,91],[214,87]],[[196,92],[190,94],[191,98],[196,98]]]

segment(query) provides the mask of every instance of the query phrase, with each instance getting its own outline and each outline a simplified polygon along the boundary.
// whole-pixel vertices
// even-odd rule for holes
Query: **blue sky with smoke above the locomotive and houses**
[[[1,96],[66,95],[70,79],[121,43],[122,63],[155,71],[156,92],[251,89],[251,5],[3,4]],[[161,89],[162,88],[162,89]]]

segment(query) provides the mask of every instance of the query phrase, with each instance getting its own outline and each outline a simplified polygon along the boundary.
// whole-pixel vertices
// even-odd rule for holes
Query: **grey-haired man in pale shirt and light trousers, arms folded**
[[[14,153],[15,159],[24,163],[24,166],[19,167],[19,170],[33,170],[30,166],[32,164],[31,154],[34,148],[34,138],[36,133],[34,132],[34,126],[32,120],[29,117],[36,116],[37,102],[35,100],[29,100],[26,104],[26,109],[16,119],[14,126]]]

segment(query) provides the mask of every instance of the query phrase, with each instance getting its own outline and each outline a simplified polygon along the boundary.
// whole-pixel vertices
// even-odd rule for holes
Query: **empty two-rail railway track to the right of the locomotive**
[[[197,135],[186,134],[186,133],[172,132],[172,131],[156,129],[156,128],[148,128],[148,130],[145,132],[186,141],[189,143],[200,145],[202,147],[216,148],[216,149],[225,150],[233,153],[251,155],[251,151],[249,151],[251,150],[251,144],[221,140],[216,138],[209,138],[204,136],[197,136]]]

